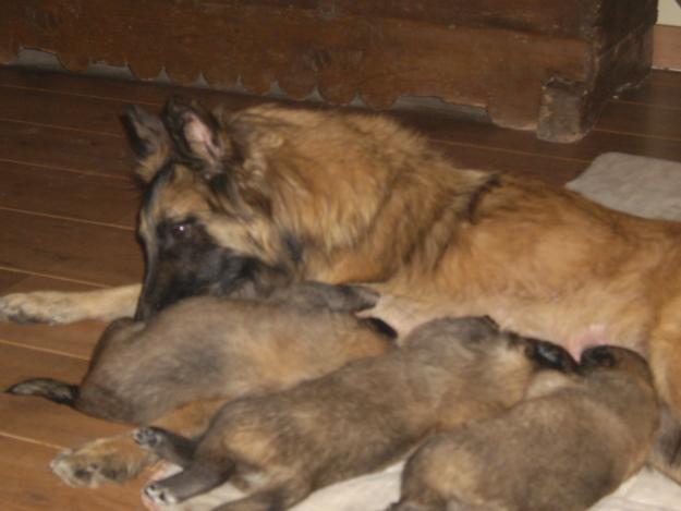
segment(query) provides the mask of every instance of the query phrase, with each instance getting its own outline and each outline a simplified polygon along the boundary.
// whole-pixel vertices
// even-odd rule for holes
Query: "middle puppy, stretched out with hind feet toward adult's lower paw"
[[[231,478],[253,494],[219,509],[285,509],[394,462],[434,431],[499,413],[538,372],[575,365],[562,348],[486,318],[433,320],[403,342],[287,391],[227,404],[198,442],[138,430],[141,445],[185,467],[147,486],[147,497],[172,503]]]

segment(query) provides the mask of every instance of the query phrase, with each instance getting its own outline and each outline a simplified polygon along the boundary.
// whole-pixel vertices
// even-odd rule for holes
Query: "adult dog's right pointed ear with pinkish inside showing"
[[[173,97],[166,105],[163,122],[180,156],[196,163],[207,178],[222,171],[229,142],[212,113],[197,102]]]

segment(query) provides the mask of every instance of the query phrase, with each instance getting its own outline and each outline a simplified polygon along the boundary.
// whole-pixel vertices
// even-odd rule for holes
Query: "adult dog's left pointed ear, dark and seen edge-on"
[[[168,131],[160,118],[136,106],[127,107],[121,121],[139,162],[137,175],[148,183],[170,158]]]

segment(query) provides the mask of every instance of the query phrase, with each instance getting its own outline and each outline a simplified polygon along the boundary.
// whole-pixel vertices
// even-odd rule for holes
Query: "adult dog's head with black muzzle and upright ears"
[[[270,196],[238,133],[179,99],[160,117],[132,107],[123,123],[146,183],[137,318],[186,296],[248,295],[290,279],[296,247],[272,221]]]

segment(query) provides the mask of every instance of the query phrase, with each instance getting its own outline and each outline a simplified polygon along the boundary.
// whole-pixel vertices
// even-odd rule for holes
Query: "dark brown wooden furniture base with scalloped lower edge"
[[[629,48],[629,59],[643,40],[639,29],[597,54],[597,40],[409,20],[320,19],[257,1],[206,9],[158,0],[4,1],[3,62],[21,42],[56,53],[70,71],[104,61],[129,65],[146,80],[165,69],[181,85],[195,85],[203,74],[218,89],[241,83],[265,95],[277,84],[293,99],[318,92],[332,105],[360,97],[379,110],[400,96],[431,96],[485,108],[496,124],[538,130],[549,141],[588,131],[604,98],[632,81],[627,66],[611,71],[622,49]],[[630,68],[639,80],[640,66]]]

